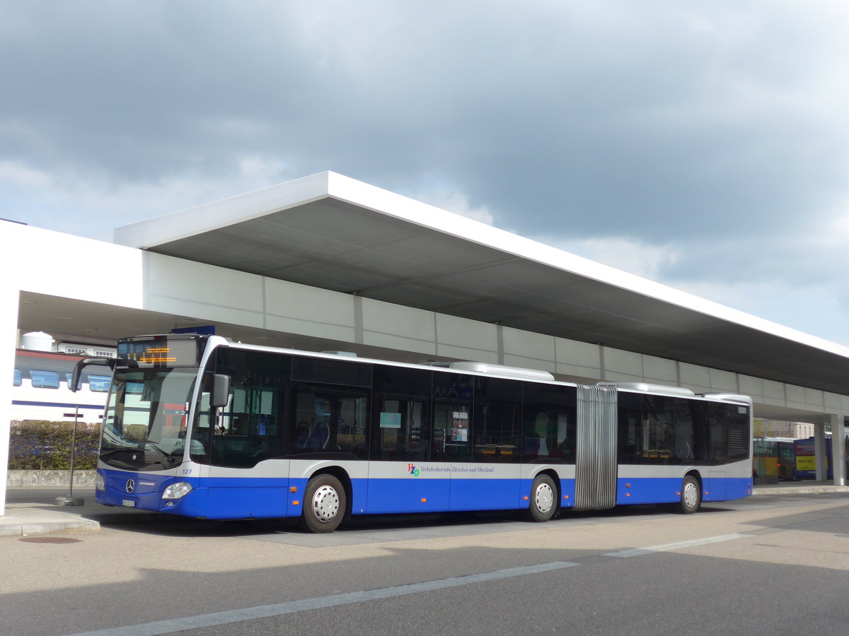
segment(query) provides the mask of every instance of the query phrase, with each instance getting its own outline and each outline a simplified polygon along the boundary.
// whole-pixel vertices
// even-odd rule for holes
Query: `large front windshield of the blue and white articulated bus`
[[[137,471],[180,464],[196,377],[196,369],[116,370],[106,404],[100,460]],[[192,444],[202,445],[197,440]]]

